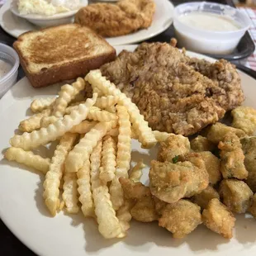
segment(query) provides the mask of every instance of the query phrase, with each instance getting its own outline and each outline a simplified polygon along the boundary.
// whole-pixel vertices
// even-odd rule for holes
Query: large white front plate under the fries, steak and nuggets
[[[116,47],[134,50],[135,46]],[[198,58],[202,55],[191,54]],[[210,61],[212,59],[209,59]],[[245,105],[256,108],[256,81],[240,73],[246,100]],[[9,147],[8,140],[17,129],[19,121],[30,113],[31,100],[36,97],[53,96],[57,87],[35,89],[26,78],[21,79],[0,101],[0,149]],[[132,159],[145,159],[149,166],[155,158],[155,150],[140,149],[133,142]],[[43,149],[43,148],[42,148]],[[47,150],[44,150],[45,154]],[[176,255],[176,256],[249,256],[256,254],[256,220],[251,216],[237,216],[233,239],[220,235],[200,225],[184,239],[173,239],[172,235],[158,224],[143,224],[132,221],[125,239],[103,239],[93,220],[82,214],[67,216],[60,212],[50,217],[42,199],[43,177],[31,173],[24,166],[7,163],[0,157],[0,216],[18,239],[40,256],[84,256],[84,255]],[[143,181],[147,182],[147,175]]]

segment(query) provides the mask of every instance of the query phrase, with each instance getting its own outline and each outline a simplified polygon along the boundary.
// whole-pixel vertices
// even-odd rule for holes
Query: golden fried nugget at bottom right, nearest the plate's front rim
[[[232,238],[235,217],[219,199],[211,199],[206,209],[202,212],[202,221],[204,225],[213,232],[227,239]]]

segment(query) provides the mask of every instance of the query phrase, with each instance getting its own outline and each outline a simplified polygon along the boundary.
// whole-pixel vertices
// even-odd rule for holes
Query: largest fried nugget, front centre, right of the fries
[[[177,164],[151,162],[149,187],[154,197],[173,203],[183,197],[192,197],[208,186],[209,175],[200,154],[187,154],[181,161]]]

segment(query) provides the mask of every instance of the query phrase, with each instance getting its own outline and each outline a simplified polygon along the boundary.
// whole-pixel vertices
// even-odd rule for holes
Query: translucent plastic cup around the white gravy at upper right
[[[239,24],[235,31],[210,31],[184,24],[179,17],[192,12],[217,14]],[[173,26],[179,47],[202,54],[228,55],[249,29],[249,17],[236,8],[214,2],[187,2],[174,8]]]

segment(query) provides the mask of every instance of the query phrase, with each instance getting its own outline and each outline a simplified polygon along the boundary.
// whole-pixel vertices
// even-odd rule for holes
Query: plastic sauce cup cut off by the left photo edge
[[[20,59],[15,50],[0,43],[0,60],[1,63],[7,64],[7,67],[10,66],[9,71],[0,77],[1,98],[17,82]]]

